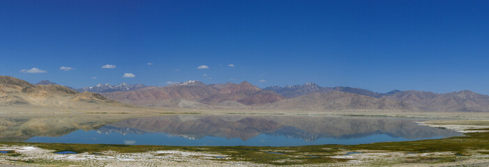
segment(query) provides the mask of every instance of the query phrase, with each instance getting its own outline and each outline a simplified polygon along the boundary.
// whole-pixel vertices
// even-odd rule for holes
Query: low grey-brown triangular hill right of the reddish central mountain
[[[344,109],[392,109],[414,110],[414,107],[403,102],[375,97],[356,95],[337,90],[328,93],[309,93],[292,99],[280,100],[265,105],[266,109],[310,109],[310,110],[344,110]]]

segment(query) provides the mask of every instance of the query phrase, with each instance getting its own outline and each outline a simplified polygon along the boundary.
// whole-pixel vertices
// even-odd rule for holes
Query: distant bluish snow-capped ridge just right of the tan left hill
[[[78,92],[91,92],[91,93],[110,93],[116,91],[130,91],[130,90],[138,90],[141,88],[146,88],[143,84],[126,84],[122,83],[119,85],[111,85],[111,84],[98,84],[96,86],[84,87],[77,89]]]

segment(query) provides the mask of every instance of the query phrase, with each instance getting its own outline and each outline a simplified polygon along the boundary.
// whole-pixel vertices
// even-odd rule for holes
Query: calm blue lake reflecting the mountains
[[[461,136],[449,129],[416,125],[415,121],[323,116],[160,116],[107,125],[86,122],[94,127],[91,130],[65,125],[59,133],[56,126],[45,127],[46,134],[32,132],[34,129],[20,132],[34,134],[22,136],[25,142],[195,146],[354,145]],[[6,137],[3,135],[3,141]]]

